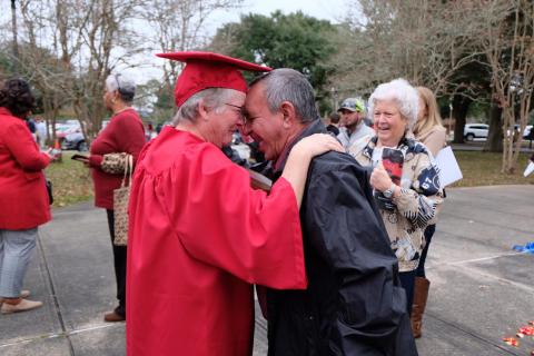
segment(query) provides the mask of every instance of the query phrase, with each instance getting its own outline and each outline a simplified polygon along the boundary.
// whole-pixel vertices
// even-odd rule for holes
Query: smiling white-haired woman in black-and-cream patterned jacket
[[[398,258],[400,283],[412,313],[416,269],[424,246],[423,231],[442,202],[437,169],[427,148],[411,131],[417,120],[417,91],[404,79],[379,85],[369,98],[376,136],[349,148],[356,160],[374,167],[370,185],[386,227],[392,249]],[[393,149],[393,150],[386,150]],[[383,154],[392,154],[402,170],[394,179],[383,165]],[[387,156],[387,155],[386,155]],[[386,165],[387,166],[387,165]],[[394,165],[395,166],[395,165]],[[395,177],[397,176],[397,177]]]

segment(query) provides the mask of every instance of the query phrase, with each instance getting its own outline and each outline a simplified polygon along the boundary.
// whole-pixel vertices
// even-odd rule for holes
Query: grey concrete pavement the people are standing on
[[[456,188],[441,212],[427,261],[432,280],[419,355],[530,355],[502,342],[534,320],[534,186]],[[125,355],[125,325],[106,324],[115,278],[106,214],[90,204],[53,211],[24,287],[44,307],[0,315],[0,355]],[[259,313],[258,313],[259,315]],[[228,327],[231,327],[230,325]],[[266,354],[257,317],[255,356]]]

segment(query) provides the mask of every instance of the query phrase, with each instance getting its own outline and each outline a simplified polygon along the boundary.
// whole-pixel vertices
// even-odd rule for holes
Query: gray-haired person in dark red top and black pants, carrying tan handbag
[[[123,175],[109,174],[102,170],[103,156],[127,152],[134,156],[134,162],[145,145],[145,127],[137,111],[130,106],[136,93],[136,85],[120,75],[111,75],[106,79],[103,103],[113,112],[109,123],[92,141],[89,167],[92,170],[95,185],[95,205],[105,208],[108,216],[109,234],[113,248],[115,276],[117,280],[117,299],[115,310],[106,313],[106,322],[126,319],[126,246],[115,246],[113,229],[113,190],[120,187]]]

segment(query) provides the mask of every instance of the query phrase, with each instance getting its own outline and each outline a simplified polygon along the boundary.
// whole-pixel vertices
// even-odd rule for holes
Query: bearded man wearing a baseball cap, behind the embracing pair
[[[374,130],[365,125],[365,103],[362,99],[347,98],[343,100],[337,111],[342,115],[337,139],[345,149],[348,149],[358,139],[374,134]]]

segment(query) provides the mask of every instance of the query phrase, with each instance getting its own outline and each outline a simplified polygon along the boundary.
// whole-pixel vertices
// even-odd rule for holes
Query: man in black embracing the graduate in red
[[[312,86],[293,69],[254,80],[245,113],[275,180],[299,139],[326,132]],[[269,356],[417,355],[368,178],[347,154],[313,160],[300,208],[308,289],[267,291]]]

